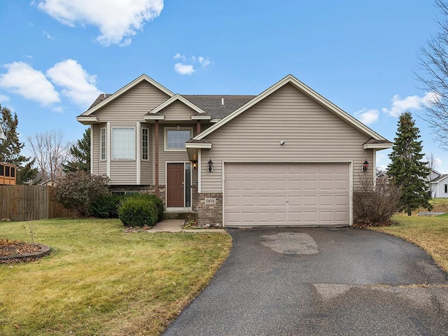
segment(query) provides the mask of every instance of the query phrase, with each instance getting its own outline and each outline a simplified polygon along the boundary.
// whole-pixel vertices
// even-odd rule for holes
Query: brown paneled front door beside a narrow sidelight
[[[183,175],[183,163],[167,164],[167,207],[169,208],[185,207]]]

